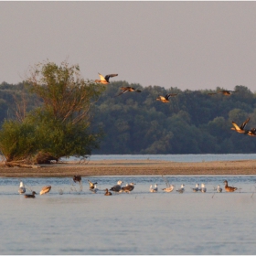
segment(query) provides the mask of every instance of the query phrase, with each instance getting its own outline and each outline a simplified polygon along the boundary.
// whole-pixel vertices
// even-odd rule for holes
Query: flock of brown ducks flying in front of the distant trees
[[[109,84],[110,83],[110,78],[112,77],[116,77],[118,76],[118,74],[109,74],[109,75],[106,75],[105,77],[103,77],[100,73],[99,73],[99,76],[100,76],[100,80],[95,80],[95,82],[100,82],[102,84]],[[140,90],[137,90],[133,87],[121,87],[121,92],[118,93],[117,95],[115,95],[115,97],[125,93],[125,92],[128,92],[128,91],[136,91],[136,92],[142,92]],[[238,92],[238,91],[229,91],[229,90],[221,90],[221,91],[217,91],[217,92],[209,92],[208,95],[216,95],[218,93],[222,93],[223,95],[226,95],[226,96],[230,96],[232,93],[234,92]],[[158,95],[158,97],[156,98],[156,101],[162,101],[164,103],[166,102],[169,102],[170,101],[170,98],[171,97],[175,97],[178,93],[167,93],[165,96],[161,96],[161,95]],[[248,118],[244,123],[242,123],[240,126],[235,123],[235,122],[232,122],[233,126],[231,128],[231,130],[235,130],[237,133],[243,133],[243,134],[248,134],[249,136],[252,136],[252,137],[256,137],[256,128],[251,128],[251,130],[245,130],[245,126],[246,124],[250,121],[250,118]]]

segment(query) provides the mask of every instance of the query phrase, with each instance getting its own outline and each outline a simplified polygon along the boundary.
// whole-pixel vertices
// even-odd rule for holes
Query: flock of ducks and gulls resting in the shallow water
[[[162,190],[164,190],[165,192],[172,192],[174,190],[174,188],[176,187],[175,185],[171,185],[168,181],[168,179],[165,177],[165,176],[162,176],[163,179],[165,180],[165,184],[166,184],[166,187],[165,188],[162,188]],[[73,181],[75,183],[80,183],[81,185],[81,176],[73,176]],[[90,180],[88,180],[88,183],[89,183],[89,189],[91,190],[92,193],[97,193],[100,189],[97,187],[97,182],[91,182]],[[105,196],[112,196],[112,192],[114,193],[130,193],[133,191],[134,189],[134,185],[135,183],[130,183],[130,184],[126,184],[126,186],[122,187],[122,184],[123,184],[123,181],[122,180],[119,180],[117,182],[116,185],[114,185],[113,187],[111,187],[110,189],[108,188],[105,188],[103,191],[105,191]],[[224,184],[225,184],[225,190],[227,192],[234,192],[235,190],[237,190],[238,188],[237,187],[229,187],[228,185],[228,181],[225,180],[224,181]],[[150,185],[150,188],[149,188],[149,192],[151,193],[155,193],[158,191],[158,185],[155,184],[155,187],[153,187],[152,185]],[[205,187],[205,184],[201,184],[201,187],[198,187],[199,185],[196,184],[196,187],[192,188],[193,192],[202,192],[202,193],[205,193],[207,192],[207,188]],[[185,185],[182,184],[181,187],[179,187],[176,192],[182,194],[185,192]],[[41,191],[40,191],[40,195],[44,195],[44,194],[48,194],[48,192],[50,191],[51,189],[51,186],[46,186],[46,187],[42,187]],[[110,191],[109,191],[110,190]],[[218,185],[217,187],[217,192],[222,192],[222,188]],[[112,191],[112,192],[111,192]],[[18,193],[19,194],[24,194],[24,197],[26,198],[35,198],[36,196],[36,192],[35,191],[32,191],[32,194],[25,194],[26,193],[26,187],[24,186],[23,182],[20,181],[20,186],[18,188]]]

